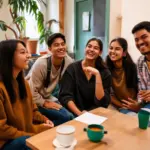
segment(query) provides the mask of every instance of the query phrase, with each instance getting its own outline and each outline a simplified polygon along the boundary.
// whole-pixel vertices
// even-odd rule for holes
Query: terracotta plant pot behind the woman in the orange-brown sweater
[[[27,40],[26,46],[27,46],[27,50],[28,50],[29,53],[36,54],[37,43],[38,43],[37,39],[29,39],[29,40]]]

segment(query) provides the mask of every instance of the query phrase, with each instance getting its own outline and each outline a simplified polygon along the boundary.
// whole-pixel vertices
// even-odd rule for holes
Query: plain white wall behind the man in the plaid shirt
[[[136,62],[140,52],[135,47],[131,33],[134,25],[141,21],[150,20],[150,0],[122,0],[122,36],[128,40],[129,52]]]

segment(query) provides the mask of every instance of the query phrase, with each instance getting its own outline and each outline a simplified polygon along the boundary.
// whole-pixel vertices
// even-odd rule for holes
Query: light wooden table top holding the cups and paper
[[[101,142],[93,143],[88,140],[83,131],[86,124],[76,120],[69,121],[65,124],[73,125],[76,128],[77,145],[75,150],[150,150],[150,128],[139,129],[137,117],[104,108],[97,108],[91,112],[108,118],[102,124],[108,134]],[[34,150],[53,150],[55,148],[52,141],[55,135],[56,128],[53,128],[27,139],[26,143]]]

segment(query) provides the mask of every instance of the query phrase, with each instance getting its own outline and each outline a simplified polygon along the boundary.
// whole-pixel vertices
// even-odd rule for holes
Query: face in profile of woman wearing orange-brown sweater
[[[23,69],[28,69],[28,62],[31,54],[28,53],[27,49],[21,44],[17,44],[17,48],[14,53],[14,69],[22,71]]]

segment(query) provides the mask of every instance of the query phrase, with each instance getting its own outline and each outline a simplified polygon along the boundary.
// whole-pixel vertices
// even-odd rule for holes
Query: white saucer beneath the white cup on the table
[[[53,145],[56,147],[55,150],[72,150],[76,144],[77,144],[77,140],[74,139],[74,141],[72,142],[72,145],[70,145],[69,147],[64,147],[59,144],[56,138],[53,140]]]

